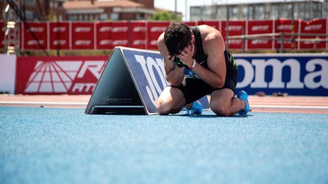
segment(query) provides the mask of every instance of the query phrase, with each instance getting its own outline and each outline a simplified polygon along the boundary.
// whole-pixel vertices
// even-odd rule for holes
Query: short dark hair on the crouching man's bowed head
[[[173,21],[165,30],[164,42],[171,56],[181,54],[191,42],[189,26],[183,22]]]

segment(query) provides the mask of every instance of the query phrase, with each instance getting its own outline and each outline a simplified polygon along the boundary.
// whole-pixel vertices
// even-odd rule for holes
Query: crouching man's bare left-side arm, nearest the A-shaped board
[[[175,62],[172,61],[174,56],[171,60],[168,59],[169,54],[164,43],[164,33],[158,37],[157,46],[160,54],[163,56],[166,80],[173,86],[179,86],[183,78],[185,78],[185,74],[183,73],[183,67],[177,67]]]

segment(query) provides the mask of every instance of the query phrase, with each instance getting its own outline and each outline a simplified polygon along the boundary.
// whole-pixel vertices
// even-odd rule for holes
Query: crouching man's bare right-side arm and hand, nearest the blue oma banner
[[[193,68],[193,72],[197,74],[199,78],[201,78],[204,82],[210,84],[214,88],[221,88],[224,85],[224,81],[226,79],[226,60],[224,59],[224,50],[225,45],[223,38],[217,30],[207,26],[205,31],[209,33],[203,40],[203,50],[208,55],[207,63],[209,69],[202,67],[200,64],[196,62],[195,67]],[[192,65],[192,55],[194,52],[194,48],[186,48],[182,52],[182,56],[178,57],[182,58],[183,63],[188,66]]]

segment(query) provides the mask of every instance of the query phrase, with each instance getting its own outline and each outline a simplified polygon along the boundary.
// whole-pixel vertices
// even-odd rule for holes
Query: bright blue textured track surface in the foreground
[[[1,183],[328,183],[328,115],[0,107]]]

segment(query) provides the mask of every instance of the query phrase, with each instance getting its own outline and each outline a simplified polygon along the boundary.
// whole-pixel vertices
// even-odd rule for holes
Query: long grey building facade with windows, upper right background
[[[222,2],[222,1],[220,1]],[[325,6],[325,7],[324,7]],[[191,20],[210,19],[278,19],[301,18],[310,20],[327,16],[327,0],[272,1],[250,4],[213,4],[212,6],[190,7]]]

